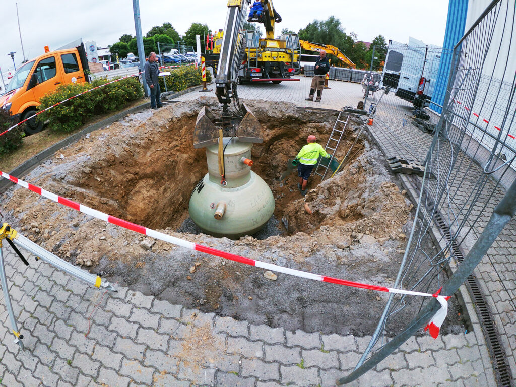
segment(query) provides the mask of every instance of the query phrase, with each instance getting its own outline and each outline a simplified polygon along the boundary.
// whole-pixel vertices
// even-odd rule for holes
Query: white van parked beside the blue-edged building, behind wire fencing
[[[422,108],[431,100],[441,62],[442,47],[409,38],[409,44],[389,40],[382,84],[395,95]]]

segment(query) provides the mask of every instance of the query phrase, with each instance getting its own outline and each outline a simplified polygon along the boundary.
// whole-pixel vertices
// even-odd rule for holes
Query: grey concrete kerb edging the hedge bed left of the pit
[[[190,87],[186,90],[178,91],[176,93],[169,92],[167,94],[167,99],[171,99],[171,98],[173,99],[180,95],[197,90],[201,87],[202,87],[202,85],[198,85],[198,86]],[[163,93],[162,93],[162,95],[163,95]],[[22,176],[27,174],[30,170],[37,167],[41,163],[43,163],[47,158],[52,156],[59,149],[62,149],[64,147],[70,145],[71,143],[74,143],[75,141],[79,140],[80,138],[82,138],[83,136],[87,135],[90,132],[96,131],[104,126],[110,125],[110,124],[120,120],[121,118],[125,117],[128,114],[134,114],[134,113],[139,112],[143,109],[146,109],[150,106],[151,106],[150,102],[145,102],[141,105],[134,106],[130,109],[120,111],[117,114],[115,114],[114,116],[108,117],[102,121],[91,124],[90,126],[85,127],[83,130],[81,130],[77,133],[74,133],[65,139],[62,139],[61,141],[55,143],[53,146],[41,151],[34,157],[31,157],[26,162],[22,163],[21,165],[19,165],[18,167],[14,168],[12,171],[10,171],[9,174],[16,176],[18,178],[21,178]],[[4,192],[10,186],[11,186],[10,181],[8,181],[6,179],[2,179],[2,181],[0,181],[0,192]]]

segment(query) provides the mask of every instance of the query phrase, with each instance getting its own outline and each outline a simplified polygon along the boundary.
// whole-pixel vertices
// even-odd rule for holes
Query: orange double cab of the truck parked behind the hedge
[[[61,84],[86,82],[87,61],[82,46],[74,49],[47,52],[30,60],[14,73],[5,93],[0,97],[0,108],[9,110],[12,120],[20,122],[33,116],[41,97]],[[41,131],[43,124],[35,118],[27,121],[25,132]]]

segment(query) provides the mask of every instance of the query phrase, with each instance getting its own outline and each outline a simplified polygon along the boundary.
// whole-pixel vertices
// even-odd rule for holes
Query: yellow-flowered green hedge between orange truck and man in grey
[[[46,93],[41,99],[39,110],[53,106],[86,90],[105,85],[111,80],[98,78],[91,83],[75,83],[59,86],[55,91]],[[117,80],[109,85],[99,87],[70,101],[64,102],[39,115],[39,119],[49,122],[52,130],[59,132],[73,131],[83,125],[94,115],[120,110],[128,102],[142,98],[143,89],[137,77]]]

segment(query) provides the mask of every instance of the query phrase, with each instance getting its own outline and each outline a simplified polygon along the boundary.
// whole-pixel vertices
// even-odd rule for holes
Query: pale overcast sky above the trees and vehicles
[[[370,42],[381,34],[386,40],[406,43],[409,36],[413,36],[440,46],[448,10],[448,0],[273,0],[273,4],[283,19],[277,24],[277,33],[282,28],[297,32],[314,19],[325,20],[334,15],[341,20],[346,33],[353,31],[362,41]],[[55,50],[83,38],[105,47],[117,42],[123,34],[135,35],[131,0],[18,0],[18,10],[27,59],[42,54],[45,45]],[[152,26],[164,22],[172,23],[180,34],[184,34],[192,22],[205,23],[212,30],[218,30],[224,25],[226,12],[227,0],[140,0],[143,35]],[[0,66],[5,72],[12,68],[9,52],[17,52],[17,67],[23,59],[16,2],[0,0],[0,15]]]

